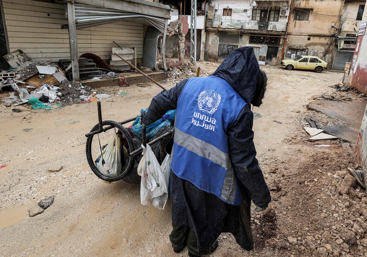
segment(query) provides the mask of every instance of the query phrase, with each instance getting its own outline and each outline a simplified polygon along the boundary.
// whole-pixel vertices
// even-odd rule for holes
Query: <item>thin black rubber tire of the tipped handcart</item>
[[[120,123],[114,122],[112,120],[105,120],[105,121],[102,122],[102,126],[109,126],[109,125],[111,125],[111,126],[115,127],[116,129],[118,129],[125,136],[125,138],[128,142],[128,145],[129,145],[129,147],[127,149],[127,152],[130,153],[130,152],[135,151],[134,142],[132,141],[132,137],[129,134],[129,132],[127,131],[127,129],[125,129],[124,126],[122,126]],[[90,132],[96,131],[96,130],[98,130],[98,128],[99,128],[99,125],[97,124],[93,127],[93,129]],[[118,175],[117,177],[113,177],[113,178],[112,177],[107,177],[107,176],[105,176],[105,175],[103,175],[99,172],[99,170],[97,169],[97,167],[94,164],[94,160],[93,160],[93,156],[92,156],[92,152],[91,152],[92,140],[93,140],[94,136],[95,135],[93,135],[91,137],[88,137],[87,138],[87,143],[86,143],[87,161],[88,161],[88,164],[89,164],[91,170],[94,172],[94,174],[97,175],[97,177],[101,178],[102,180],[105,180],[105,181],[108,181],[108,182],[115,182],[115,181],[121,180],[122,178],[127,176],[131,172],[131,168],[134,165],[134,159],[135,158],[130,158],[130,157],[127,158],[127,160],[125,162],[125,165],[122,168],[121,174]]]

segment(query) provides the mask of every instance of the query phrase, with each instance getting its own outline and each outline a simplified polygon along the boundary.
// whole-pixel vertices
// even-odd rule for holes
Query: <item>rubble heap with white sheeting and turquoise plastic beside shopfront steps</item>
[[[10,91],[9,97],[3,97],[9,107],[11,104],[17,106],[27,102],[33,106],[80,104],[98,101],[98,96],[101,99],[110,97],[107,94],[98,95],[97,91],[80,82],[67,80],[65,71],[51,62],[35,62],[0,72],[0,93],[1,88]],[[31,98],[32,102],[29,101]]]

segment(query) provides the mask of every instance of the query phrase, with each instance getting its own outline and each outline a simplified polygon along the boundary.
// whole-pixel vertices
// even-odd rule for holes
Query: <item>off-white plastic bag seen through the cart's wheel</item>
[[[107,177],[121,174],[120,138],[117,134],[102,146],[102,154],[94,162],[97,169]]]

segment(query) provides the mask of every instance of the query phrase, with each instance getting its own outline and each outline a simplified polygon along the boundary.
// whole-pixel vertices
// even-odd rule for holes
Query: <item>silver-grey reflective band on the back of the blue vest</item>
[[[199,138],[186,134],[175,128],[174,141],[176,144],[196,153],[197,155],[211,160],[227,170],[222,187],[222,198],[228,202],[234,202],[236,193],[236,178],[232,169],[229,154]]]

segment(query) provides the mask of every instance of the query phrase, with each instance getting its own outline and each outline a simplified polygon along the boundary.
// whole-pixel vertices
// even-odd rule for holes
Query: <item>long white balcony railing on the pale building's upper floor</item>
[[[252,29],[252,30],[272,30],[286,31],[287,22],[279,21],[243,21],[229,19],[207,19],[207,28],[225,29]]]

